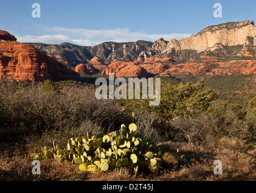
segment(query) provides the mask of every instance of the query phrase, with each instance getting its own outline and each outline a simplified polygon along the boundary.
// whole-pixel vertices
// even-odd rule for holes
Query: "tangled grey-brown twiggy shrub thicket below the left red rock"
[[[123,116],[115,100],[97,100],[90,86],[62,87],[60,92],[52,81],[26,86],[3,81],[0,89],[1,130],[41,135],[79,128],[88,119],[109,128]]]

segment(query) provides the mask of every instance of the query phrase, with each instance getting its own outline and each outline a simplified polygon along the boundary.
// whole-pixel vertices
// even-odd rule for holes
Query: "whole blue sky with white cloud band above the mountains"
[[[33,18],[33,3],[41,17]],[[213,16],[222,4],[222,18]],[[212,0],[1,0],[0,30],[19,42],[93,46],[105,41],[183,39],[209,25],[256,21],[256,1]]]

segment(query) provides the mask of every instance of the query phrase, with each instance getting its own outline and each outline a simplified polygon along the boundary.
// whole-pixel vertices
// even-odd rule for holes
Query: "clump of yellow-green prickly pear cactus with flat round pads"
[[[122,124],[119,131],[107,134],[100,131],[91,137],[87,133],[82,138],[71,138],[66,149],[61,149],[54,140],[52,150],[36,148],[30,158],[67,160],[79,165],[80,171],[88,172],[130,168],[137,176],[139,169],[159,168],[161,150],[162,144],[154,145],[150,139],[144,139],[137,125],[132,123],[128,128]]]

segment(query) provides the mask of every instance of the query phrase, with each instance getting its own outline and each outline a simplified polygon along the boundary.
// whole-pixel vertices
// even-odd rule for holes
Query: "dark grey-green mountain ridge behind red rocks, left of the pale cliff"
[[[47,45],[45,43],[26,43],[41,49],[67,66],[75,67],[80,63],[88,63],[94,56],[100,57],[105,64],[115,60],[126,62],[137,60],[140,52],[151,49],[153,42],[138,40],[137,42],[103,42],[96,46],[78,46],[71,43]]]

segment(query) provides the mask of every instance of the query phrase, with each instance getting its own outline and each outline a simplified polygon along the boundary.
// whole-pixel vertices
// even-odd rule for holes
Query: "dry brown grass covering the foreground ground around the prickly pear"
[[[163,159],[166,165],[158,172],[140,174],[137,178],[126,169],[122,174],[117,170],[90,174],[79,171],[78,166],[72,163],[47,159],[41,160],[41,175],[33,175],[30,154],[34,147],[1,144],[0,180],[256,180],[256,172],[250,172],[249,159],[242,153],[245,148],[243,141],[223,138],[216,144],[214,148],[207,149],[188,143],[165,142]],[[179,163],[171,155],[177,149],[179,156],[185,155]],[[213,173],[214,160],[222,161],[222,175]]]

